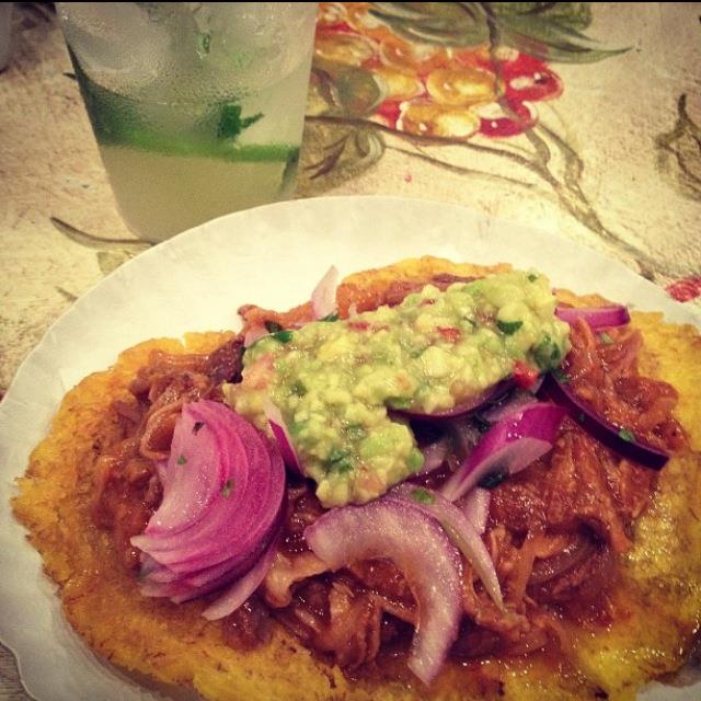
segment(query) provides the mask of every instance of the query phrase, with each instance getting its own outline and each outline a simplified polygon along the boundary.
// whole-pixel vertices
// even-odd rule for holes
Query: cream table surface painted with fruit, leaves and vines
[[[463,204],[604,250],[701,309],[700,15],[322,3],[297,195]],[[0,391],[50,322],[148,248],[116,210],[50,8],[18,3],[14,37],[0,74]],[[26,697],[0,650],[10,698]]]

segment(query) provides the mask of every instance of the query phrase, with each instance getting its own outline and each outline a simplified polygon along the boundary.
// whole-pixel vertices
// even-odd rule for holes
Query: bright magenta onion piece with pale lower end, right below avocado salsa
[[[527,468],[552,448],[565,413],[561,406],[539,402],[494,424],[443,485],[441,494],[455,502],[491,472],[514,474]]]

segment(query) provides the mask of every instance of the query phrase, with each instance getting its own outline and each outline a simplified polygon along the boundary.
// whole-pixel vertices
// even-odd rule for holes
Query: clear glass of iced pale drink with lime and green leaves
[[[158,241],[290,195],[315,2],[60,2],[127,225]]]

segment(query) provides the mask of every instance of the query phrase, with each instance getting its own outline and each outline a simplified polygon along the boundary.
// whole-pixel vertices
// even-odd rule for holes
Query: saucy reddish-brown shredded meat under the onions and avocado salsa
[[[432,281],[445,288],[456,278]],[[421,285],[390,285],[382,299],[371,303],[399,303]],[[287,314],[252,306],[241,312],[249,326],[265,321],[289,326],[310,314],[307,306]],[[565,369],[581,399],[651,446],[674,451],[683,445],[671,414],[675,390],[639,375],[637,332],[610,330],[602,340],[577,322],[571,337]],[[240,338],[209,356],[153,354],[134,380],[131,398],[114,404],[125,438],[99,459],[94,518],[112,530],[128,567],[139,560],[129,539],[143,529],[161,499],[158,464],[168,458],[182,405],[217,398],[222,381],[238,378]],[[448,460],[424,482],[439,487],[452,469]],[[466,563],[464,616],[452,657],[522,655],[550,644],[566,651],[563,617],[577,620],[595,610],[598,620],[606,621],[606,591],[616,582],[617,558],[630,548],[633,520],[645,509],[655,481],[655,472],[565,420],[550,455],[492,491],[484,539],[505,606],[492,601]],[[382,655],[409,647],[418,613],[414,597],[390,561],[329,572],[303,538],[323,513],[310,484],[290,476],[279,550],[258,591],[225,620],[225,637],[237,647],[254,647],[268,639],[274,618],[344,669],[382,664],[389,658]]]

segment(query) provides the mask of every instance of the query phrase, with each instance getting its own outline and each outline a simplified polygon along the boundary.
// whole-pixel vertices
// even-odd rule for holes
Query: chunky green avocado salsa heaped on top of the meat
[[[407,425],[388,409],[430,414],[514,372],[560,365],[570,326],[554,315],[543,275],[503,273],[440,291],[427,285],[397,307],[310,322],[264,336],[227,387],[233,409],[267,429],[269,395],[325,507],[365,503],[421,470]]]

